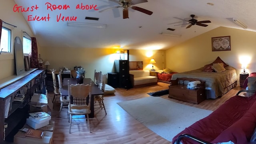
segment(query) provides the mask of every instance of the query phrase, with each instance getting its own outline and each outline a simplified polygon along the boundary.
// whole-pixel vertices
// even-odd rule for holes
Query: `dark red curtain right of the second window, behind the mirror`
[[[31,57],[30,57],[30,67],[31,68],[38,68],[39,63],[38,63],[38,54],[37,54],[37,44],[36,44],[36,37],[31,37]]]

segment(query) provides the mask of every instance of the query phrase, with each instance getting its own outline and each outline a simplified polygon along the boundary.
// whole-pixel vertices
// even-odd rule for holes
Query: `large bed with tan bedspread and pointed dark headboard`
[[[197,78],[205,81],[206,99],[216,99],[237,85],[236,69],[217,59],[204,67],[192,71],[176,73],[172,80],[181,77]]]

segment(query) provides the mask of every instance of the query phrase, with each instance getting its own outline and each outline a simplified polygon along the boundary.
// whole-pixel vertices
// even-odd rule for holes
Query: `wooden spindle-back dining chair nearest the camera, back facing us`
[[[70,82],[68,80],[68,96],[70,97],[69,105],[68,105],[68,114],[69,114],[68,122],[70,122],[69,133],[71,133],[72,124],[75,123],[72,121],[72,119],[79,118],[79,117],[76,117],[77,115],[85,116],[85,119],[86,119],[85,122],[88,123],[89,130],[90,132],[92,132],[90,129],[90,118],[89,118],[89,114],[91,113],[90,101],[92,97],[91,95],[92,81],[90,82],[90,85],[84,85],[84,84],[70,85],[69,83]]]

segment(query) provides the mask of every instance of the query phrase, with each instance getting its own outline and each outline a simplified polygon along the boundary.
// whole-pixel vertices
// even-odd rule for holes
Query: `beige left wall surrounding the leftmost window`
[[[21,13],[13,12],[12,8],[15,5],[13,0],[0,0],[0,19],[4,22],[17,26],[13,30],[12,36],[12,54],[2,53],[0,55],[0,79],[14,75],[14,39],[16,36],[22,39],[23,32],[27,32],[30,36],[32,34],[26,20]]]

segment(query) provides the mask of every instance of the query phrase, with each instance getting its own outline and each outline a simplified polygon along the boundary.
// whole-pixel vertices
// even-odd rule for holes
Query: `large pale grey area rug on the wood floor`
[[[186,127],[212,113],[211,110],[182,105],[161,97],[145,97],[117,104],[169,141]]]

